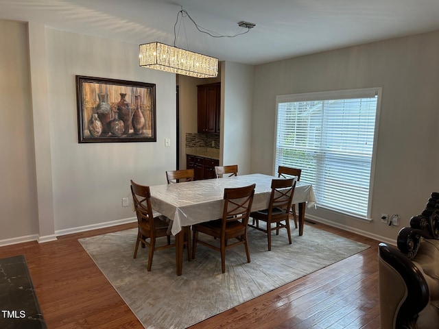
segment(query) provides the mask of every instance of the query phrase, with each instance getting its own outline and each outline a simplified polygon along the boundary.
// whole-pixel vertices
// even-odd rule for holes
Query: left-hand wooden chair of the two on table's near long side
[[[247,263],[250,263],[250,251],[247,243],[247,224],[250,209],[252,208],[254,186],[256,186],[256,184],[237,188],[224,188],[222,218],[192,226],[192,258],[195,258],[197,243],[217,250],[221,253],[222,273],[225,273],[226,249],[236,247],[237,245],[244,245],[246,248]],[[206,240],[198,239],[199,232],[213,236],[215,241],[211,241],[211,243]],[[233,243],[228,243],[230,239],[234,239]]]

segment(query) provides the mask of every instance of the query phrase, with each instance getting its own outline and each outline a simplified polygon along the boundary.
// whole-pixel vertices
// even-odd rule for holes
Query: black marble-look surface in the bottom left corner
[[[47,328],[23,255],[0,259],[0,328]]]

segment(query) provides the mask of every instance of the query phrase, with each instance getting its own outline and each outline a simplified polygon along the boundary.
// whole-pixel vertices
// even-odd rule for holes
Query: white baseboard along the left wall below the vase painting
[[[90,231],[90,230],[97,230],[98,228],[110,228],[111,226],[133,223],[134,221],[137,221],[137,217],[130,217],[126,219],[118,219],[117,221],[106,221],[105,223],[79,226],[78,228],[67,228],[65,230],[56,230],[55,234],[45,235],[45,236],[38,236],[38,234],[17,236],[16,238],[0,240],[0,247],[3,247],[5,245],[16,245],[17,243],[25,243],[29,241],[37,241],[38,243],[56,241],[57,236],[79,233],[79,232]]]

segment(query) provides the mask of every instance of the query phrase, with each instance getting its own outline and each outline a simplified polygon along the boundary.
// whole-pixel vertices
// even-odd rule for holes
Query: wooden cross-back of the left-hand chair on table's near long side
[[[224,188],[223,228],[226,226],[226,221],[237,220],[241,220],[244,226],[247,226],[255,186],[256,184],[237,188]]]

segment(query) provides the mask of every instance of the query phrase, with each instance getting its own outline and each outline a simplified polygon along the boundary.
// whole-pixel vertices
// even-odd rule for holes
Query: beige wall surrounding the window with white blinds
[[[252,171],[274,172],[276,95],[352,88],[383,88],[371,223],[309,210],[318,221],[393,241],[438,191],[439,32],[396,38],[256,67]],[[399,214],[401,226],[381,223]]]

